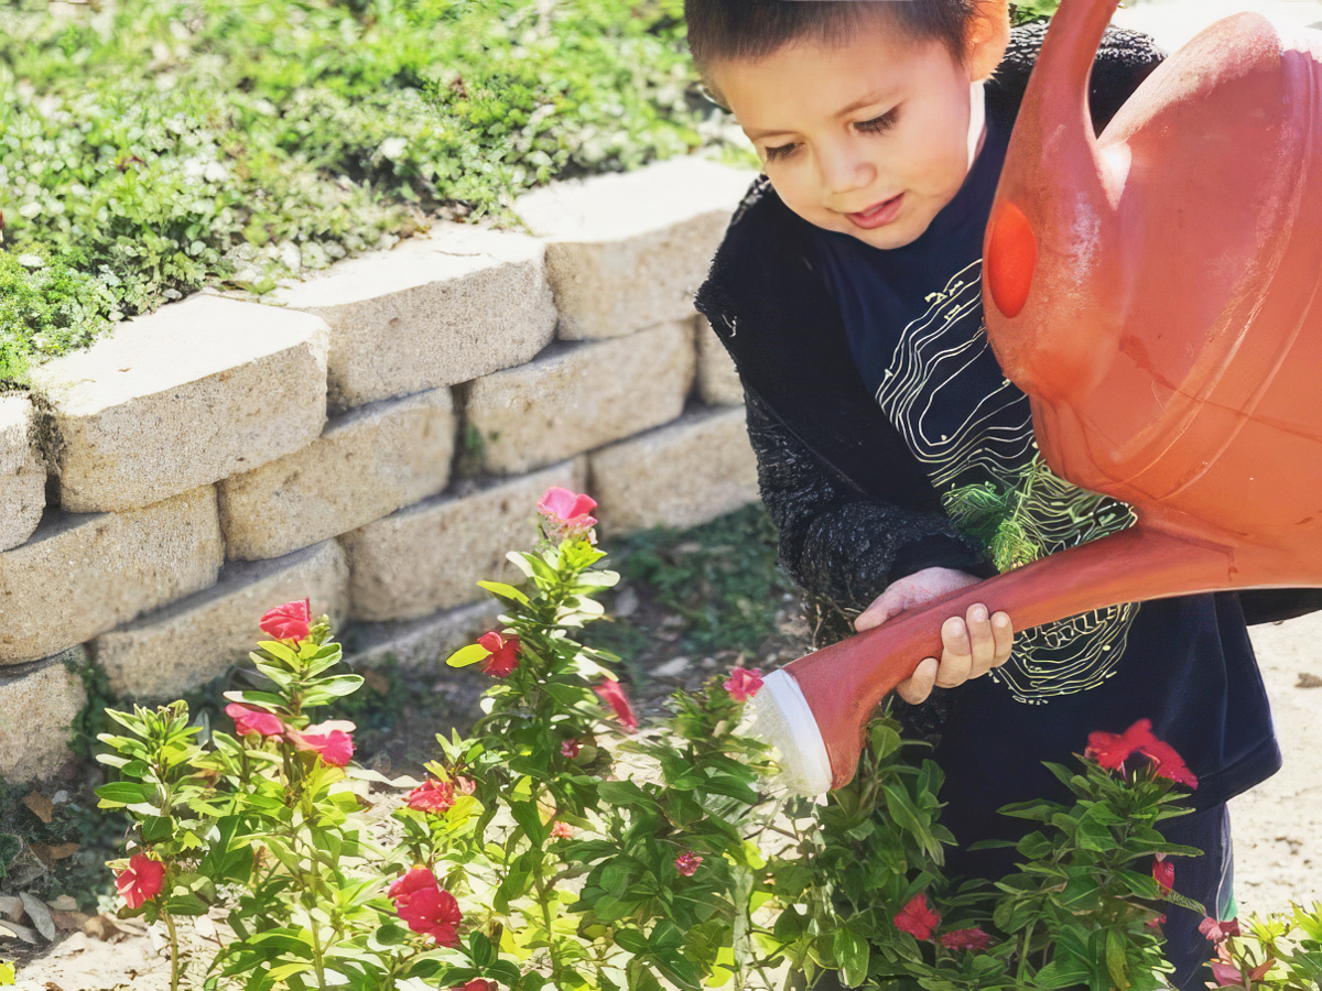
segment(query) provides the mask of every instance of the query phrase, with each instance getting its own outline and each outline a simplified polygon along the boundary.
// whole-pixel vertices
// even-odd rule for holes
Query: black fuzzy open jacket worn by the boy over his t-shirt
[[[986,86],[989,119],[1013,124],[1044,33],[1044,24],[1011,33]],[[1108,29],[1089,92],[1099,131],[1161,59],[1147,36]],[[982,577],[995,569],[954,530],[863,386],[839,311],[813,268],[813,230],[759,176],[730,222],[697,308],[743,382],[761,498],[821,646],[850,633],[850,618],[899,577],[928,567]],[[1311,589],[1241,597],[1249,622],[1322,606],[1322,592]]]

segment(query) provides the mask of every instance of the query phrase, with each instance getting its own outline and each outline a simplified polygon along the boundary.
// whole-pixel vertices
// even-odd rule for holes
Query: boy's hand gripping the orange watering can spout
[[[880,626],[906,609],[978,581],[964,571],[924,568],[887,585],[854,620],[854,629],[862,632]],[[988,608],[981,603],[970,605],[966,616],[952,616],[941,624],[940,663],[936,658],[924,658],[914,675],[896,686],[896,691],[910,704],[917,704],[931,694],[933,684],[953,688],[969,678],[981,678],[1010,659],[1013,641],[1014,630],[1006,613],[989,617]]]

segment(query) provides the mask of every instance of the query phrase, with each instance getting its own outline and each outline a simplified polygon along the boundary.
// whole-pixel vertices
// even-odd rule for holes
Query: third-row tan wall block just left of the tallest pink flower
[[[414,620],[485,599],[481,579],[522,580],[506,551],[537,542],[537,501],[553,485],[583,492],[584,459],[464,494],[439,495],[340,538],[354,620]]]

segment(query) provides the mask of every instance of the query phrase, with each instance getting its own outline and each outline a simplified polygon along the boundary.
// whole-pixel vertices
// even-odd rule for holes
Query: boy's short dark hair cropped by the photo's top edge
[[[886,20],[914,41],[937,40],[962,61],[978,0],[683,0],[693,63],[709,82],[711,65],[765,58],[793,42],[847,44]]]

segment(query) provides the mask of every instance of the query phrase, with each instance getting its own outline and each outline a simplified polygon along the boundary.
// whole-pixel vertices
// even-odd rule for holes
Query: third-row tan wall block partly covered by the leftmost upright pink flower
[[[93,641],[118,695],[169,700],[247,661],[267,637],[267,609],[311,599],[340,629],[349,612],[349,563],[334,540],[275,560],[230,562],[219,581]]]

